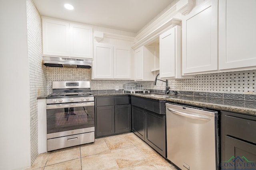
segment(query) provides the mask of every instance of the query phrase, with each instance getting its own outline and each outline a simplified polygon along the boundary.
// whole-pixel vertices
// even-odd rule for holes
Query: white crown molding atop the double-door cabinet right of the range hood
[[[120,39],[124,41],[132,41],[134,42],[134,37],[129,37],[125,35],[118,35],[113,33],[105,33],[100,31],[94,31],[94,39],[99,43],[102,41],[104,37],[112,38],[112,39]]]

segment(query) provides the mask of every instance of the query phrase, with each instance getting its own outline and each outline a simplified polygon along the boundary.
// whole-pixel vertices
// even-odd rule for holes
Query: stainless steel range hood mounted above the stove
[[[66,68],[91,68],[92,60],[76,59],[68,57],[47,57],[43,56],[43,63],[50,67],[66,67]]]

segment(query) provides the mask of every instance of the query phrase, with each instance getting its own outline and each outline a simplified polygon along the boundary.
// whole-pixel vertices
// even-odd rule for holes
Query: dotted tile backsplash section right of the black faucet
[[[170,89],[194,92],[256,94],[256,70],[196,75],[194,79],[169,80]]]

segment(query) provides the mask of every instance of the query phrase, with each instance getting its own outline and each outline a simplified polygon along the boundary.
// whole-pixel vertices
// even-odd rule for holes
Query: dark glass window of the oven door
[[[94,106],[47,109],[47,134],[94,127]]]

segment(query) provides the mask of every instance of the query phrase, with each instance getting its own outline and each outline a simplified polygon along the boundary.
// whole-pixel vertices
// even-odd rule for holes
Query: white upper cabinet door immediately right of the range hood
[[[113,46],[95,43],[93,59],[94,78],[113,78]]]

